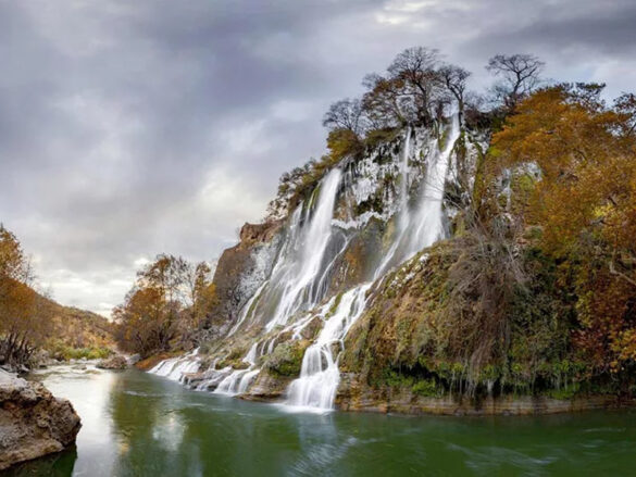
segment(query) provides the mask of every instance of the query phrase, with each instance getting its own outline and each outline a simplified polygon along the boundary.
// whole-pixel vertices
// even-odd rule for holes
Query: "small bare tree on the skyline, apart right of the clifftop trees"
[[[515,105],[540,84],[545,63],[532,54],[497,54],[488,60],[486,70],[501,81],[495,85],[495,96],[512,111]]]

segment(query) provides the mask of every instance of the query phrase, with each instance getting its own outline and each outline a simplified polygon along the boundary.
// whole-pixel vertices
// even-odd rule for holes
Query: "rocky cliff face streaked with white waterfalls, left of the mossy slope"
[[[288,216],[246,224],[215,272],[216,338],[204,353],[169,363],[169,377],[184,379],[179,369],[197,362],[185,380],[198,389],[319,407],[338,396],[347,407],[357,397],[346,382],[366,382],[385,366],[364,356],[396,352],[402,343],[391,336],[412,332],[411,312],[426,306],[421,297],[396,301],[375,323],[392,271],[460,226],[486,147],[486,134],[450,120],[406,128],[337,164]],[[429,277],[417,278],[413,296]]]

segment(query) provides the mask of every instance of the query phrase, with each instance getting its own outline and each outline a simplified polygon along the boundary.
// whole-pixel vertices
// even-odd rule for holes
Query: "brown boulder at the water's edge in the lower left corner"
[[[73,405],[43,385],[0,371],[0,470],[60,452],[82,424]]]

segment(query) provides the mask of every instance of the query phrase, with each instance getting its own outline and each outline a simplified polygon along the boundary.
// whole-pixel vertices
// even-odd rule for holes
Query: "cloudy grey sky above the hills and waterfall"
[[[636,89],[634,0],[0,0],[0,222],[40,288],[105,316],[161,252],[213,261],[329,103],[401,50]]]

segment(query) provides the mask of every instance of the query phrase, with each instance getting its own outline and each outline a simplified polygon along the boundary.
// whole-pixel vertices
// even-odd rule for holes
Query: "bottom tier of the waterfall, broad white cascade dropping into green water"
[[[304,352],[300,377],[291,382],[287,404],[301,409],[331,410],[340,382],[338,356],[351,325],[364,311],[365,293],[371,284],[360,285],[340,298],[335,311],[323,316],[325,324],[316,341]],[[335,305],[333,298],[323,310]],[[337,348],[334,354],[334,348]]]

